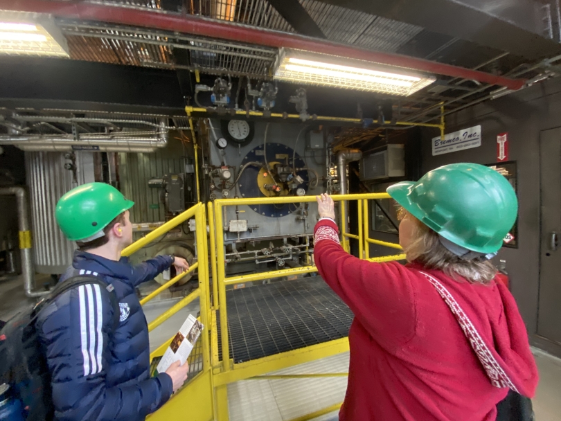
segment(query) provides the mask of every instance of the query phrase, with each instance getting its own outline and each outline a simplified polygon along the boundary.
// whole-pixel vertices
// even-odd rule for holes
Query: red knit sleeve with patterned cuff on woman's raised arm
[[[397,262],[360,260],[339,244],[335,222],[314,229],[314,260],[323,280],[350,307],[379,343],[402,345],[415,334],[416,306],[411,271]]]

